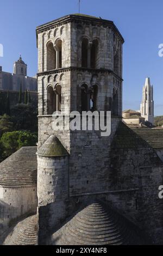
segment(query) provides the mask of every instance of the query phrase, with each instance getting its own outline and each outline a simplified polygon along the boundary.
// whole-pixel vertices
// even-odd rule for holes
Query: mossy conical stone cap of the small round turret
[[[37,155],[43,157],[67,156],[68,153],[59,139],[52,135],[37,151]]]

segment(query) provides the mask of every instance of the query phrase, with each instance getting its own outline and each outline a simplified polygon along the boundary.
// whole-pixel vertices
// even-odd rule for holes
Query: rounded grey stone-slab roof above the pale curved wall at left
[[[23,147],[0,163],[0,186],[27,186],[37,182],[37,147]]]

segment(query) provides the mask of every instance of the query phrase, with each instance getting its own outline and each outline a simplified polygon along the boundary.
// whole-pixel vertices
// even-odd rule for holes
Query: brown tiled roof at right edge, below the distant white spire
[[[163,129],[133,129],[152,148],[163,149]]]

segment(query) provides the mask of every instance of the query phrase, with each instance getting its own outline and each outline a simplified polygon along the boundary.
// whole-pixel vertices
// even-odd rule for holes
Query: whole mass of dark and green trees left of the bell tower
[[[9,112],[10,115],[0,115],[0,162],[21,147],[32,147],[37,142],[35,107],[21,103]]]

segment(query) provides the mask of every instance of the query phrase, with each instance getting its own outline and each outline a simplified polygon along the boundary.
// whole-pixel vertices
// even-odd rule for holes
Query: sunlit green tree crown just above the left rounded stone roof
[[[21,147],[33,147],[36,145],[37,135],[29,131],[5,132],[2,135],[1,143],[4,158],[7,158]]]

